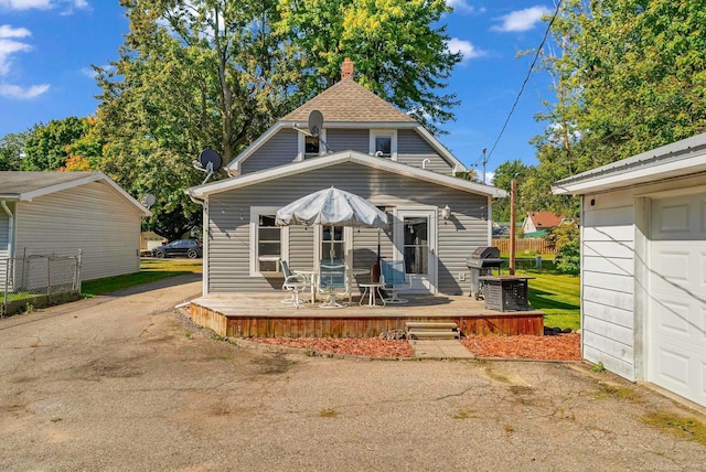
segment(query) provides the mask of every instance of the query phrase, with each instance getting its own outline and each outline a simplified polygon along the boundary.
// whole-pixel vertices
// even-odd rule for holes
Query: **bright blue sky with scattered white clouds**
[[[440,140],[467,165],[490,152],[517,96],[553,3],[541,0],[447,0],[449,49],[464,60],[449,81],[461,105]],[[117,0],[0,0],[0,137],[39,122],[95,114],[99,93],[90,64],[118,58],[128,23]],[[534,115],[552,100],[548,76],[532,75],[514,115],[488,162],[492,172],[506,160],[534,164],[530,139],[542,132]],[[477,168],[479,174],[480,165]]]

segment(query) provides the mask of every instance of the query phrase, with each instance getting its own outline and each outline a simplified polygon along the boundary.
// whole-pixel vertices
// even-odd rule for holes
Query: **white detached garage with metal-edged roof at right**
[[[553,190],[581,195],[584,356],[706,406],[706,133]]]

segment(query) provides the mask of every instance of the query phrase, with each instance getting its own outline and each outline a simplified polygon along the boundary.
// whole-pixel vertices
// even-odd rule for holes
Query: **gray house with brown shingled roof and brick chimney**
[[[321,139],[298,130],[312,110],[323,115]],[[490,245],[492,197],[505,196],[453,176],[461,162],[356,84],[350,62],[341,82],[278,120],[227,171],[231,179],[189,190],[204,201],[204,296],[280,290],[279,259],[312,269],[331,248],[366,280],[378,240],[382,257],[406,260],[409,291],[468,293],[466,258]],[[278,208],[329,186],[384,208],[389,229],[276,226]]]

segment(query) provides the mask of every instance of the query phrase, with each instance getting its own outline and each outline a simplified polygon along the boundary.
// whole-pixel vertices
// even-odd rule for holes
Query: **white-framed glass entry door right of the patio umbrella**
[[[403,259],[411,287],[407,293],[437,292],[437,212],[400,210],[396,212],[395,260]]]

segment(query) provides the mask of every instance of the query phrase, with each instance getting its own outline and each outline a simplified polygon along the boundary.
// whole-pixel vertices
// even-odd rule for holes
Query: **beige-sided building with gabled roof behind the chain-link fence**
[[[99,172],[0,172],[0,267],[6,258],[82,250],[83,280],[136,272],[149,214]]]

